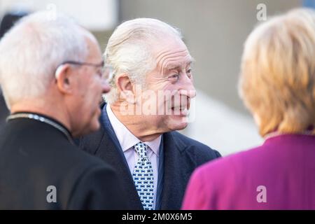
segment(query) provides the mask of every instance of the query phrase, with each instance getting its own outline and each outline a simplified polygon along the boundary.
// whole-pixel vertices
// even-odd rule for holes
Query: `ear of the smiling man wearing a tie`
[[[121,73],[117,76],[116,86],[120,92],[120,98],[128,102],[134,102],[134,89],[127,73]]]

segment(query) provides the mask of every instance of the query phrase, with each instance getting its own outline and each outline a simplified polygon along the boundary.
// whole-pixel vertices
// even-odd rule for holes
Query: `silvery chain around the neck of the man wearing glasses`
[[[59,123],[57,120],[55,120],[53,118],[48,118],[47,116],[44,116],[44,115],[41,115],[38,113],[21,112],[21,113],[11,114],[10,116],[8,116],[8,118],[6,118],[6,121],[8,122],[9,120],[15,120],[15,119],[19,119],[19,118],[38,120],[42,123],[46,123],[52,127],[55,127],[55,129],[62,132],[66,136],[66,138],[70,141],[70,143],[74,145],[74,141],[73,141],[73,138],[72,138],[69,130],[67,130],[66,127],[64,127],[64,125],[62,125],[62,123]]]

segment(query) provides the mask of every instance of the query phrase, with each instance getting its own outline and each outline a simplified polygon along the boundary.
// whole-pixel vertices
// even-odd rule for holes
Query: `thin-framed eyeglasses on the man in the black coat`
[[[78,66],[93,66],[95,68],[102,68],[100,71],[98,71],[99,76],[102,77],[102,79],[109,81],[113,77],[113,67],[110,65],[106,65],[104,61],[102,61],[99,64],[93,64],[93,63],[88,63],[88,62],[75,62],[75,61],[66,61],[62,62],[62,64],[59,64],[59,66],[56,69],[55,76],[57,76],[57,71],[60,66],[64,64],[74,64]]]

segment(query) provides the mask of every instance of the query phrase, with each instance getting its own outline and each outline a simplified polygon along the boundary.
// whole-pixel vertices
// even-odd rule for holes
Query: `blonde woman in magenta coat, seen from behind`
[[[183,209],[315,209],[314,10],[254,29],[239,90],[265,143],[198,168]]]

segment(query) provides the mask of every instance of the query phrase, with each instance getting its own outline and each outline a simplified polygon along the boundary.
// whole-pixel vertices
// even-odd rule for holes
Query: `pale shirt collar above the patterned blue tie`
[[[123,152],[132,148],[139,142],[141,142],[137,137],[127,129],[127,127],[118,120],[113,111],[111,110],[111,106],[109,104],[106,105],[106,112],[109,116],[109,121],[113,127],[113,130],[116,134],[116,137],[119,141],[120,147],[123,149]],[[159,156],[160,144],[161,144],[161,136],[154,139],[153,141],[146,141],[144,144],[148,145],[151,148],[155,155]]]

